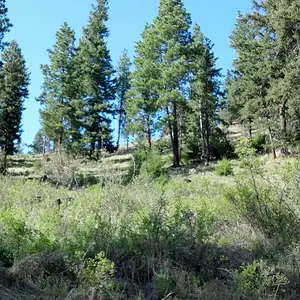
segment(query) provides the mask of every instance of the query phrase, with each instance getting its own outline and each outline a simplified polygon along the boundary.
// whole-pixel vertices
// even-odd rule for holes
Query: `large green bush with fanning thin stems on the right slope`
[[[262,163],[248,160],[236,178],[236,186],[227,190],[226,196],[253,228],[268,238],[277,238],[278,243],[289,244],[299,238],[296,228],[300,218],[294,213],[295,200],[291,201],[289,193],[286,194],[280,181],[286,182],[282,175],[278,182],[270,182],[263,172]]]

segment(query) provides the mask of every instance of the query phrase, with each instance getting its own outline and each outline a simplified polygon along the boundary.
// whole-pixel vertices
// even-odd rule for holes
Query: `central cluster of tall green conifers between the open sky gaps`
[[[134,61],[127,51],[112,66],[107,47],[108,3],[98,0],[78,45],[63,24],[42,66],[42,129],[36,151],[65,149],[98,157],[117,149],[121,139],[145,141],[168,136],[173,164],[182,152],[209,161],[221,96],[220,70],[210,40],[181,0],[161,0],[153,23],[136,44]],[[133,68],[132,68],[133,65]],[[112,143],[112,120],[117,142]],[[186,148],[184,148],[186,147]]]

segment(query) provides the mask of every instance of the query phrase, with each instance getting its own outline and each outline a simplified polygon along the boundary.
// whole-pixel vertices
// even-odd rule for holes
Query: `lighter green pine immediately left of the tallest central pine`
[[[131,76],[131,89],[126,95],[126,131],[137,135],[152,146],[152,138],[158,129],[158,80],[160,67],[156,31],[146,25],[142,40],[136,45],[135,71]]]

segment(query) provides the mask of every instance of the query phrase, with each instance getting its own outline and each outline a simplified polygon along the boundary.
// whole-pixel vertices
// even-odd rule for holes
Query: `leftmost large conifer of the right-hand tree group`
[[[275,35],[261,9],[261,6],[255,5],[252,14],[239,15],[231,36],[237,59],[228,87],[229,108],[241,122],[248,124],[250,137],[254,123],[262,132],[269,133],[273,144],[278,128],[279,105],[270,88],[273,78],[280,76],[280,71]],[[275,148],[272,148],[275,157]]]

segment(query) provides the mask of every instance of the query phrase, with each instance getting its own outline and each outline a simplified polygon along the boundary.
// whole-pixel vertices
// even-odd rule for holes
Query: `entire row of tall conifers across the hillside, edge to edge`
[[[5,1],[1,3],[3,39],[11,25]],[[97,0],[79,42],[64,23],[48,50],[49,63],[41,66],[44,82],[37,100],[42,128],[34,151],[64,150],[97,158],[102,149],[117,149],[121,140],[142,141],[151,149],[153,140],[163,137],[174,166],[183,156],[209,163],[233,150],[220,125],[238,123],[246,126],[250,139],[254,128],[262,134],[275,157],[276,148],[299,139],[299,11],[299,0],[253,1],[253,11],[238,16],[231,35],[236,59],[224,80],[213,44],[192,23],[182,0],[161,0],[158,15],[136,43],[134,60],[124,50],[114,67],[107,46],[108,1]],[[11,154],[20,141],[28,73],[15,42],[5,51],[1,149]],[[5,68],[12,52],[19,57],[14,72],[23,74],[13,80],[22,92],[14,96],[4,74],[13,72]],[[5,115],[10,103],[14,109],[7,112],[15,111],[16,117]]]

